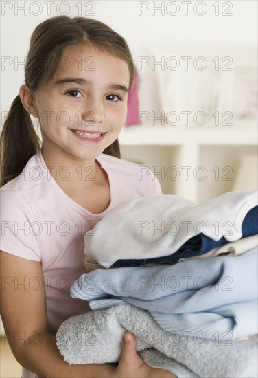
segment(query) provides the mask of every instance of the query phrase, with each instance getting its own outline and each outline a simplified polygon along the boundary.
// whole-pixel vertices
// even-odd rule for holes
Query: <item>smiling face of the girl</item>
[[[126,120],[129,81],[124,60],[94,47],[67,48],[34,98],[43,148],[75,160],[101,154]]]

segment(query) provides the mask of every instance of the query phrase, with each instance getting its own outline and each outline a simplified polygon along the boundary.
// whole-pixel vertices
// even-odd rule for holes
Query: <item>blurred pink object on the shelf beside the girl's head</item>
[[[128,100],[127,100],[127,117],[124,126],[130,126],[132,124],[139,125],[139,73],[137,68],[135,67],[134,71],[134,79],[132,81],[132,86],[128,92]]]

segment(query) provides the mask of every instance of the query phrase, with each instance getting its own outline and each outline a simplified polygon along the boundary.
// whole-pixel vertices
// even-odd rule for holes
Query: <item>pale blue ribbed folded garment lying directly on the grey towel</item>
[[[93,310],[100,310],[125,303],[124,300],[119,299],[99,299],[91,300],[90,307]],[[257,300],[228,304],[199,313],[149,312],[157,324],[169,332],[187,332],[191,336],[204,332],[209,339],[212,339],[216,333],[218,337],[230,334],[234,339],[258,333]]]

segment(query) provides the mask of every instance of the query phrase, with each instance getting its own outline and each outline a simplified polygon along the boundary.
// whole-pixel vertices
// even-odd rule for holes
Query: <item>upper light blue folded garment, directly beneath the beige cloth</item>
[[[71,296],[123,299],[163,313],[197,313],[257,300],[257,247],[241,256],[185,260],[176,265],[97,269],[82,274]]]

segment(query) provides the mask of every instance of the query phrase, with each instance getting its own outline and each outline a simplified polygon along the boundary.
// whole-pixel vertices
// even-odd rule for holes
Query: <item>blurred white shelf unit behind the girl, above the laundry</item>
[[[161,65],[141,67],[142,124],[122,129],[122,157],[148,166],[164,194],[200,202],[235,190],[242,157],[257,154],[257,47],[203,43],[147,49],[146,56]],[[184,56],[192,58],[189,69]],[[194,66],[197,56],[206,59],[205,69]],[[167,64],[173,57],[180,63],[176,69]],[[257,164],[252,165],[255,177]],[[180,173],[174,180],[173,172]]]

